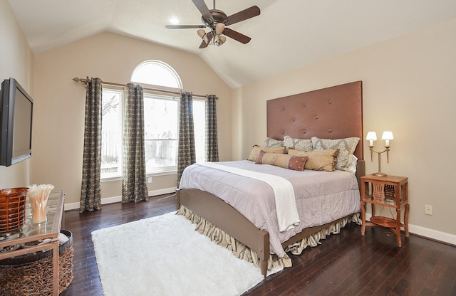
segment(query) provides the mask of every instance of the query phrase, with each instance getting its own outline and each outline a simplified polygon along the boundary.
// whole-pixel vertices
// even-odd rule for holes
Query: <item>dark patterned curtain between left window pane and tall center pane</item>
[[[145,176],[144,97],[141,85],[126,86],[123,124],[122,202],[148,201]]]

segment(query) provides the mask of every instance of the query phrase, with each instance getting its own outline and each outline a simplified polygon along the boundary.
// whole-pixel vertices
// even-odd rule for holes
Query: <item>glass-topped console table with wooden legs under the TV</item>
[[[26,221],[22,227],[22,231],[14,233],[11,236],[0,238],[0,247],[10,245],[21,245],[30,243],[36,240],[51,239],[50,242],[43,245],[33,245],[28,248],[19,250],[9,250],[0,253],[0,260],[11,258],[19,255],[33,253],[41,250],[53,250],[53,295],[58,296],[58,233],[61,231],[61,223],[63,217],[63,204],[65,192],[52,191],[48,197],[46,206],[46,222],[32,223],[31,205],[27,199],[26,202]]]

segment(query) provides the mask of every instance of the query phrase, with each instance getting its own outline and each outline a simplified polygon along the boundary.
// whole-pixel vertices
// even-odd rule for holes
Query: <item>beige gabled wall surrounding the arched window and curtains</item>
[[[216,94],[219,124],[219,156],[232,156],[231,126],[223,125],[231,116],[232,90],[200,59],[114,33],[96,36],[39,53],[35,57],[35,131],[33,181],[54,184],[66,191],[66,204],[78,203],[81,196],[84,105],[86,90],[74,77],[99,77],[114,83],[130,82],[133,69],[144,60],[162,60],[174,68],[184,90],[195,94]],[[154,176],[150,191],[161,192],[176,186],[176,176]],[[102,203],[118,200],[121,182],[102,183]],[[74,205],[73,205],[74,206]]]

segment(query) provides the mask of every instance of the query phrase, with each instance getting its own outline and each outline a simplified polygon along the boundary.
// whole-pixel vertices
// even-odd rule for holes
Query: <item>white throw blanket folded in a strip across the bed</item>
[[[296,208],[296,198],[294,197],[293,185],[285,178],[272,174],[264,174],[258,171],[247,171],[247,169],[239,169],[234,166],[224,166],[215,162],[204,162],[195,164],[208,166],[222,171],[228,171],[239,176],[247,176],[247,178],[264,181],[272,187],[274,198],[276,201],[277,223],[279,231],[289,231],[299,224],[298,208]]]

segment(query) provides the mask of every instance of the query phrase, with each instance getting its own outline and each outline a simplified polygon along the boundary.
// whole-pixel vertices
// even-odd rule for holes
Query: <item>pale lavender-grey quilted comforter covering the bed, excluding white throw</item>
[[[269,232],[271,252],[283,257],[281,243],[304,228],[323,225],[360,211],[360,193],[356,176],[346,171],[293,171],[247,160],[219,162],[249,171],[274,174],[287,179],[294,187],[299,225],[279,231],[274,191],[257,179],[193,164],[181,177],[180,189],[207,191],[237,209],[257,228]]]

